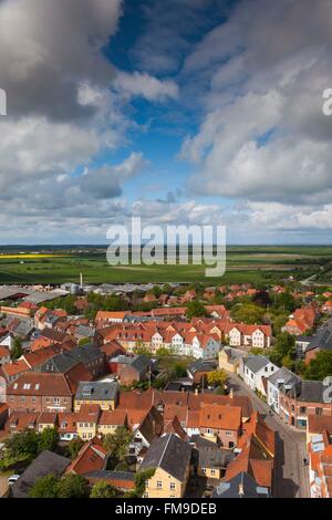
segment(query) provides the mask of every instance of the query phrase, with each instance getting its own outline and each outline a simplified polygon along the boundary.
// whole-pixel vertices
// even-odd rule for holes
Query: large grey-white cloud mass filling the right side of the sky
[[[210,74],[206,115],[181,149],[195,165],[196,193],[298,205],[331,199],[332,118],[322,113],[331,17],[325,0],[241,2],[187,58],[190,81]]]

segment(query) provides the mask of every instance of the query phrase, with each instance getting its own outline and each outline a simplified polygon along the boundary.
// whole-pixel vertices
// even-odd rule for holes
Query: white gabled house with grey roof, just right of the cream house
[[[263,355],[249,355],[242,357],[239,365],[239,374],[253,392],[258,391],[267,395],[266,381],[278,371],[278,366]]]

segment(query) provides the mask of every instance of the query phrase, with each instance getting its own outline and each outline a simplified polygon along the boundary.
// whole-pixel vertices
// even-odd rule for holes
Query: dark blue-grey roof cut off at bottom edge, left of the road
[[[228,482],[220,482],[211,498],[268,498],[267,488],[257,486],[256,480],[242,471]]]

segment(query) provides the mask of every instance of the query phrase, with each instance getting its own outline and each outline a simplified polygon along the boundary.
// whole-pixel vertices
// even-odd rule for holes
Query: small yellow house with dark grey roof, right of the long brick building
[[[118,385],[115,381],[81,382],[74,398],[74,410],[82,405],[98,405],[101,409],[114,409],[117,405]]]

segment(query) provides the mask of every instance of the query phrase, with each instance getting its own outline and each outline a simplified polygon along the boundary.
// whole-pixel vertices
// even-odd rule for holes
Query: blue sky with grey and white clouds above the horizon
[[[0,243],[332,242],[330,0],[0,0]]]

